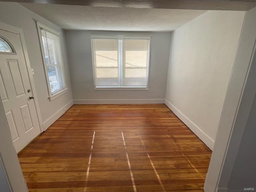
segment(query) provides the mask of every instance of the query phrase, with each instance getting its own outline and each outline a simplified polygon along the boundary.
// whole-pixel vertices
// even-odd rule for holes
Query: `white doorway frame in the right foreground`
[[[230,176],[256,95],[255,18],[256,8],[246,11],[204,184],[205,192],[228,192]]]

